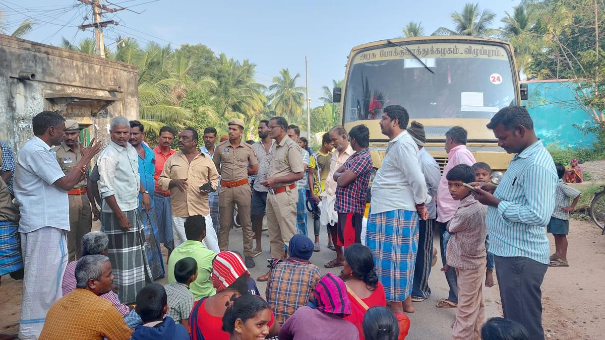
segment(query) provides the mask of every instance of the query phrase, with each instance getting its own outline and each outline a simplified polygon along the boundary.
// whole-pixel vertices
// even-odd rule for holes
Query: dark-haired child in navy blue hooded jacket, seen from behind
[[[132,332],[134,340],[188,340],[189,333],[183,325],[175,324],[170,316],[164,317],[168,310],[168,296],[161,284],[151,283],[137,293],[137,314],[143,319],[143,325]]]

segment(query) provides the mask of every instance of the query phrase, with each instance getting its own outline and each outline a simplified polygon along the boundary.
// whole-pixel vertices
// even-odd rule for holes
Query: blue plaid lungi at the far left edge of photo
[[[19,223],[0,222],[0,275],[23,268]]]

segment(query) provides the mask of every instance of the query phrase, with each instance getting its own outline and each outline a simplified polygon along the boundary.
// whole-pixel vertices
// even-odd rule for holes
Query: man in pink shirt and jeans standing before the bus
[[[468,136],[468,133],[460,126],[454,126],[448,132],[445,132],[445,152],[448,153],[448,163],[443,169],[443,175],[437,187],[437,227],[439,228],[439,246],[443,266],[446,264],[445,252],[443,252],[443,233],[446,232],[448,221],[454,216],[459,202],[451,197],[448,180],[445,176],[456,165],[473,166],[476,163],[475,157],[466,148],[466,136]],[[458,304],[456,271],[448,270],[445,273],[445,279],[448,281],[448,286],[450,286],[450,293],[448,298],[437,302],[437,308],[456,308]]]

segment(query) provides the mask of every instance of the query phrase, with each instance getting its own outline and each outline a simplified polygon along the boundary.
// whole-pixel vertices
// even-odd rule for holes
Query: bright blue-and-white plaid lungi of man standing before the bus
[[[410,296],[418,247],[418,213],[394,210],[371,214],[367,245],[374,255],[378,280],[388,301],[401,302]]]

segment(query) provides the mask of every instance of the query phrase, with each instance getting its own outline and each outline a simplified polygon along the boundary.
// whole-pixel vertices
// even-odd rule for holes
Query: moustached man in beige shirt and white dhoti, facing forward
[[[189,216],[202,215],[206,217],[204,245],[218,253],[220,250],[208,206],[208,192],[217,189],[218,172],[210,157],[197,147],[197,142],[198,134],[194,128],[183,129],[178,134],[180,151],[166,160],[157,181],[162,190],[170,190],[174,246],[178,247],[187,240],[185,220]]]

